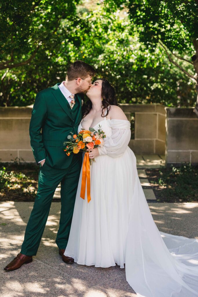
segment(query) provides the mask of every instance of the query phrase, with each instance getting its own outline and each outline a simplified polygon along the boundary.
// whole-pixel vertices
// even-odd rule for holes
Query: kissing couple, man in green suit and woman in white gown
[[[137,296],[198,296],[198,240],[159,232],[128,144],[130,122],[104,78],[92,83],[94,68],[75,61],[66,80],[40,91],[30,121],[30,139],[39,164],[38,192],[20,253],[4,269],[32,262],[61,182],[61,214],[56,237],[66,264],[126,268]],[[88,101],[84,104],[83,93]],[[66,156],[70,133],[102,127],[104,145],[89,151],[91,201],[80,197],[85,154]],[[42,132],[41,132],[42,130]]]

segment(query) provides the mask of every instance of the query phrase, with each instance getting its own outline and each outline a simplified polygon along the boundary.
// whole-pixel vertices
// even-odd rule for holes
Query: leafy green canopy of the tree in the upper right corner
[[[169,61],[195,84],[198,93],[198,1],[115,0],[111,10],[128,8],[132,27],[150,52],[161,48]],[[198,115],[198,96],[195,112]]]

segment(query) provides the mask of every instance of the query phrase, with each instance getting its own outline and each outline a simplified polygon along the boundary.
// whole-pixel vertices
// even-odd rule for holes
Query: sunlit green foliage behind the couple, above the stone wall
[[[191,78],[172,67],[161,45],[145,42],[125,8],[115,1],[61,2],[1,4],[1,106],[32,104],[38,91],[64,80],[77,59],[109,79],[121,103],[194,104]]]

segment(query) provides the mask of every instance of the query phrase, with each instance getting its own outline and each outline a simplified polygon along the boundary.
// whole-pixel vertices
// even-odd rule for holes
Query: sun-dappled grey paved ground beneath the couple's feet
[[[142,174],[144,174],[142,172]],[[143,178],[143,176],[142,176]],[[148,203],[160,231],[198,238],[198,203]],[[32,263],[3,270],[20,252],[32,202],[0,202],[0,297],[135,297],[125,269],[65,264],[55,244],[61,205],[53,202]]]

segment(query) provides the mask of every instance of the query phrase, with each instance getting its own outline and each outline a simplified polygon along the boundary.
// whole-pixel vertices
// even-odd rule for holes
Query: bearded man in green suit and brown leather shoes
[[[21,252],[4,268],[6,271],[32,262],[32,256],[37,254],[53,195],[60,182],[61,215],[56,244],[63,261],[73,263],[72,258],[64,256],[64,251],[71,228],[82,155],[71,153],[67,157],[63,142],[70,132],[77,134],[82,119],[82,93],[90,88],[94,75],[95,70],[89,64],[75,61],[67,69],[66,81],[36,96],[29,131],[34,158],[40,166],[38,192]]]

